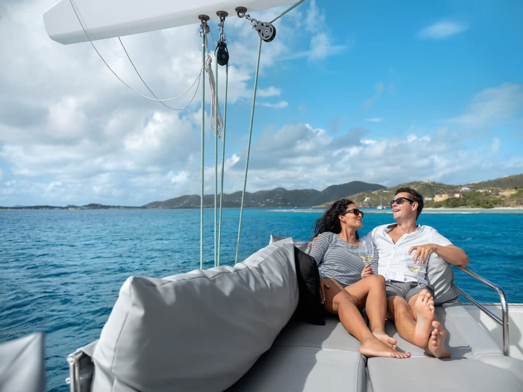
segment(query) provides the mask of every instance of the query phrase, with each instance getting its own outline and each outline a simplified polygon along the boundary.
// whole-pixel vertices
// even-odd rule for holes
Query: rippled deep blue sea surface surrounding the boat
[[[391,223],[391,210],[363,209],[360,230]],[[310,240],[320,209],[245,209],[238,261],[270,234]],[[225,209],[221,264],[234,264],[239,209]],[[161,278],[200,268],[199,210],[0,211],[0,342],[46,334],[47,390],[67,391],[66,355],[99,338],[130,275]],[[523,211],[424,211],[470,257],[469,268],[523,303]],[[214,211],[204,211],[204,268],[214,266]],[[497,294],[456,271],[456,283],[481,302]]]

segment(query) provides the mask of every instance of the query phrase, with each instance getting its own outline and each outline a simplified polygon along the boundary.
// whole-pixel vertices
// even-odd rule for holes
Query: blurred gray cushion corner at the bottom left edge
[[[0,391],[43,392],[43,334],[34,333],[0,344]]]

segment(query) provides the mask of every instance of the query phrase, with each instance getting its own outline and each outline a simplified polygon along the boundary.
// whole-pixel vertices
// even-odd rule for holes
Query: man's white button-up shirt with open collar
[[[397,223],[391,225],[381,225],[375,227],[370,233],[374,241],[374,245],[378,249],[378,273],[383,275],[385,280],[393,280],[396,282],[416,282],[416,273],[408,269],[407,266],[414,265],[413,255],[408,255],[408,250],[412,246],[436,244],[441,246],[452,245],[452,243],[438,233],[433,227],[418,225],[417,229],[409,234],[404,234],[396,241],[392,241],[389,236],[390,230],[394,228]],[[430,262],[430,257],[427,263]],[[419,270],[419,283],[427,284],[425,280],[426,266],[422,266]]]

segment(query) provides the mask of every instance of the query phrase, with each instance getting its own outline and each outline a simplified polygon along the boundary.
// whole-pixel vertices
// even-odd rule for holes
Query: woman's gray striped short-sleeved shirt
[[[372,243],[372,237],[369,235],[361,240]],[[318,263],[318,270],[323,278],[335,279],[344,286],[356,283],[361,279],[363,261],[359,258],[358,247],[350,245],[334,233],[320,234],[314,241],[311,256]],[[374,247],[370,267],[374,273],[378,273],[376,247]]]

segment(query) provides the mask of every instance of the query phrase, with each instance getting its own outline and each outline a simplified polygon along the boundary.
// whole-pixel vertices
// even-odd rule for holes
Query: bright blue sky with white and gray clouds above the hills
[[[181,111],[140,97],[89,42],[49,38],[42,14],[54,3],[0,3],[0,206],[140,206],[199,194],[201,86]],[[286,8],[250,15],[268,21]],[[523,173],[521,20],[518,0],[305,1],[275,22],[276,38],[261,47],[246,190],[355,180],[464,185]],[[215,44],[217,21],[210,27]],[[258,36],[236,16],[224,31],[231,193],[244,184]],[[199,24],[121,41],[158,97],[178,96],[200,72]],[[118,38],[94,43],[124,82],[151,95]],[[210,194],[215,141],[205,77]],[[217,80],[224,114],[224,67]],[[194,92],[168,105],[181,108]],[[221,151],[219,141],[219,173]]]

